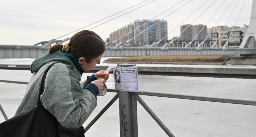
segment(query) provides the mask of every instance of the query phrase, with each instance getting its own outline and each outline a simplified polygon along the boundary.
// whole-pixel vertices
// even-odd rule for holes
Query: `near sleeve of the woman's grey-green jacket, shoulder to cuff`
[[[66,65],[53,65],[47,73],[41,101],[65,128],[78,129],[97,106],[95,96],[82,89],[78,78]]]

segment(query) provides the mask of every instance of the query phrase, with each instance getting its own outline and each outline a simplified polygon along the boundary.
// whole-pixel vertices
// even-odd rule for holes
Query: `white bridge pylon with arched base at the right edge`
[[[253,0],[249,28],[248,28],[239,48],[245,48],[245,47],[248,47],[248,45],[249,45],[249,48],[256,48],[256,42],[255,42],[256,26],[255,26],[255,24],[256,24],[256,0]]]

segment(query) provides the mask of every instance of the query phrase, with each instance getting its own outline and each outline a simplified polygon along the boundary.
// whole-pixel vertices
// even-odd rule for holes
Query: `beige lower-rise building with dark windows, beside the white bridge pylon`
[[[228,41],[229,47],[239,47],[244,35],[247,32],[248,25],[244,24],[243,27],[228,27],[228,26],[217,26],[212,27],[212,42],[215,43],[218,37],[220,37],[217,41],[216,47],[223,47],[225,43]],[[224,28],[224,29],[223,29]],[[234,28],[234,29],[233,29]],[[221,30],[223,31],[221,32]],[[233,30],[233,31],[232,31]],[[232,32],[232,34],[231,34]],[[231,35],[231,36],[230,36]]]

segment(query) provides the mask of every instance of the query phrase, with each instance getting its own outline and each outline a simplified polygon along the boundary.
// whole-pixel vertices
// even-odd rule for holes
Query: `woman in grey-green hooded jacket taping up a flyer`
[[[79,83],[84,71],[91,70],[105,51],[104,41],[94,32],[83,30],[76,33],[65,45],[56,44],[48,54],[37,58],[30,66],[32,74],[25,96],[16,114],[34,108],[42,76],[49,69],[41,102],[61,124],[78,129],[97,106],[97,95],[103,90],[103,82],[109,75],[101,70]],[[102,80],[97,80],[103,77]],[[40,123],[39,123],[40,124]]]

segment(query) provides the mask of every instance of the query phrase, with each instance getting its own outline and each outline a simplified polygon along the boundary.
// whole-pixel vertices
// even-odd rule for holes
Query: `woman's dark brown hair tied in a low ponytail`
[[[49,54],[61,50],[63,45],[55,44],[49,48]],[[77,60],[84,57],[87,63],[97,58],[105,51],[105,42],[93,31],[82,30],[74,34],[69,41],[69,52],[71,52]]]

